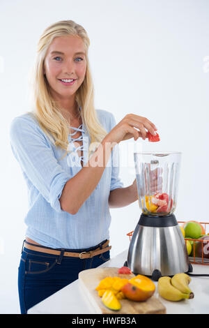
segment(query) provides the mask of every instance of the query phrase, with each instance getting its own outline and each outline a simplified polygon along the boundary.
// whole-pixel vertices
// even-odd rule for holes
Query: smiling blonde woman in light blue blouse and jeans
[[[155,125],[137,114],[116,124],[95,110],[89,39],[72,20],[43,31],[33,70],[33,107],[10,125],[29,195],[18,274],[21,313],[109,260],[109,207],[137,200],[118,177],[118,144]],[[93,145],[93,147],[92,147]]]

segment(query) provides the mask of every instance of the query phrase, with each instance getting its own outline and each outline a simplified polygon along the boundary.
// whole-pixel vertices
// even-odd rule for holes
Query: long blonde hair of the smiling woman
[[[77,105],[82,107],[80,112],[82,122],[86,125],[86,130],[91,138],[91,144],[94,142],[100,143],[104,136],[107,135],[107,131],[105,131],[98,120],[94,107],[93,80],[88,61],[88,47],[90,45],[90,40],[86,30],[72,20],[56,22],[43,31],[40,40],[38,41],[36,61],[31,76],[33,110],[29,113],[36,117],[42,131],[48,135],[49,139],[54,142],[56,147],[59,146],[61,149],[65,150],[64,156],[69,152],[69,122],[63,117],[60,110],[61,107],[59,107],[49,93],[49,84],[43,73],[43,65],[47,49],[52,43],[52,40],[58,36],[69,35],[82,38],[86,48],[86,75],[84,77],[84,82],[75,95]],[[90,151],[88,151],[88,155],[89,154]]]

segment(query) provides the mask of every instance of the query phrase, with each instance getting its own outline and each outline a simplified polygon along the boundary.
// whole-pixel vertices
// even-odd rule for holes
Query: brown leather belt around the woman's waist
[[[68,256],[70,258],[93,258],[93,256],[95,255],[99,255],[102,253],[105,253],[107,251],[109,251],[111,249],[111,246],[109,245],[109,240],[107,240],[101,247],[96,248],[94,251],[89,251],[89,252],[82,252],[82,253],[71,253],[71,252],[64,252],[63,256]],[[24,245],[25,248],[27,249],[31,249],[31,251],[38,251],[41,253],[47,253],[47,254],[54,254],[54,255],[61,255],[61,251],[56,251],[55,249],[52,248],[43,248],[41,246],[35,246],[34,244],[31,245],[29,243],[27,243],[26,241],[24,241]]]

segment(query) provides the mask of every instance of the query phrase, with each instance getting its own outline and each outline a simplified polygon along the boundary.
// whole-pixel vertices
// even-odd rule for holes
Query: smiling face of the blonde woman
[[[84,42],[78,36],[59,36],[49,45],[44,74],[55,99],[70,100],[75,96],[86,74],[85,53]],[[63,79],[73,81],[63,83]]]

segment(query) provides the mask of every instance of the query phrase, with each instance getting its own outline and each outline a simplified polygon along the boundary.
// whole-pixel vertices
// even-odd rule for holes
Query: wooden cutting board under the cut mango
[[[115,277],[120,276],[121,278],[132,278],[134,274],[121,275],[118,274],[118,268],[116,267],[103,267],[96,269],[88,269],[81,271],[79,273],[79,285],[82,288],[82,291],[88,298],[93,311],[100,314],[149,314],[157,313],[164,314],[166,313],[166,308],[161,303],[159,299],[152,296],[146,301],[130,301],[129,299],[120,299],[121,310],[120,311],[111,311],[109,308],[104,306],[102,303],[102,298],[98,296],[98,291],[95,288],[98,286],[100,281],[106,277]]]

